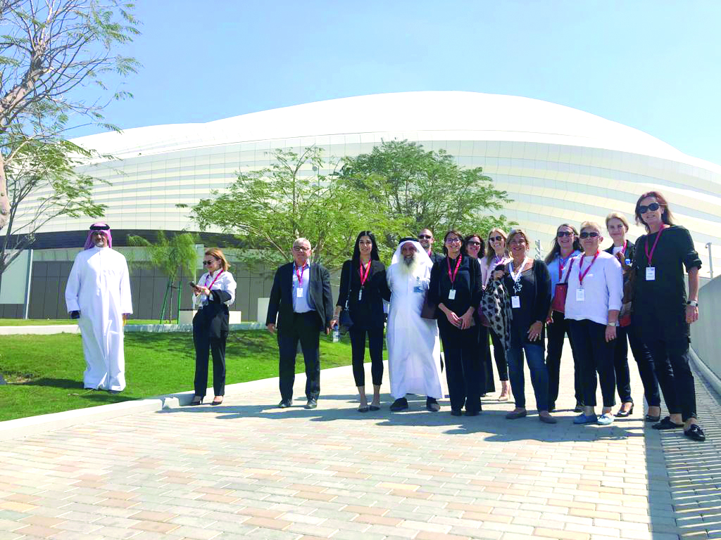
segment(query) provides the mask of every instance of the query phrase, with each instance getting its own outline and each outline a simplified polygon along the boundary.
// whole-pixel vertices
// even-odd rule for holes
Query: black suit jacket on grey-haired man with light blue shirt
[[[310,288],[308,292],[318,313],[318,330],[324,331],[329,328],[333,318],[330,274],[323,266],[311,263],[309,275]],[[283,264],[275,271],[265,324],[275,323],[276,317],[279,330],[293,326],[293,263]]]

